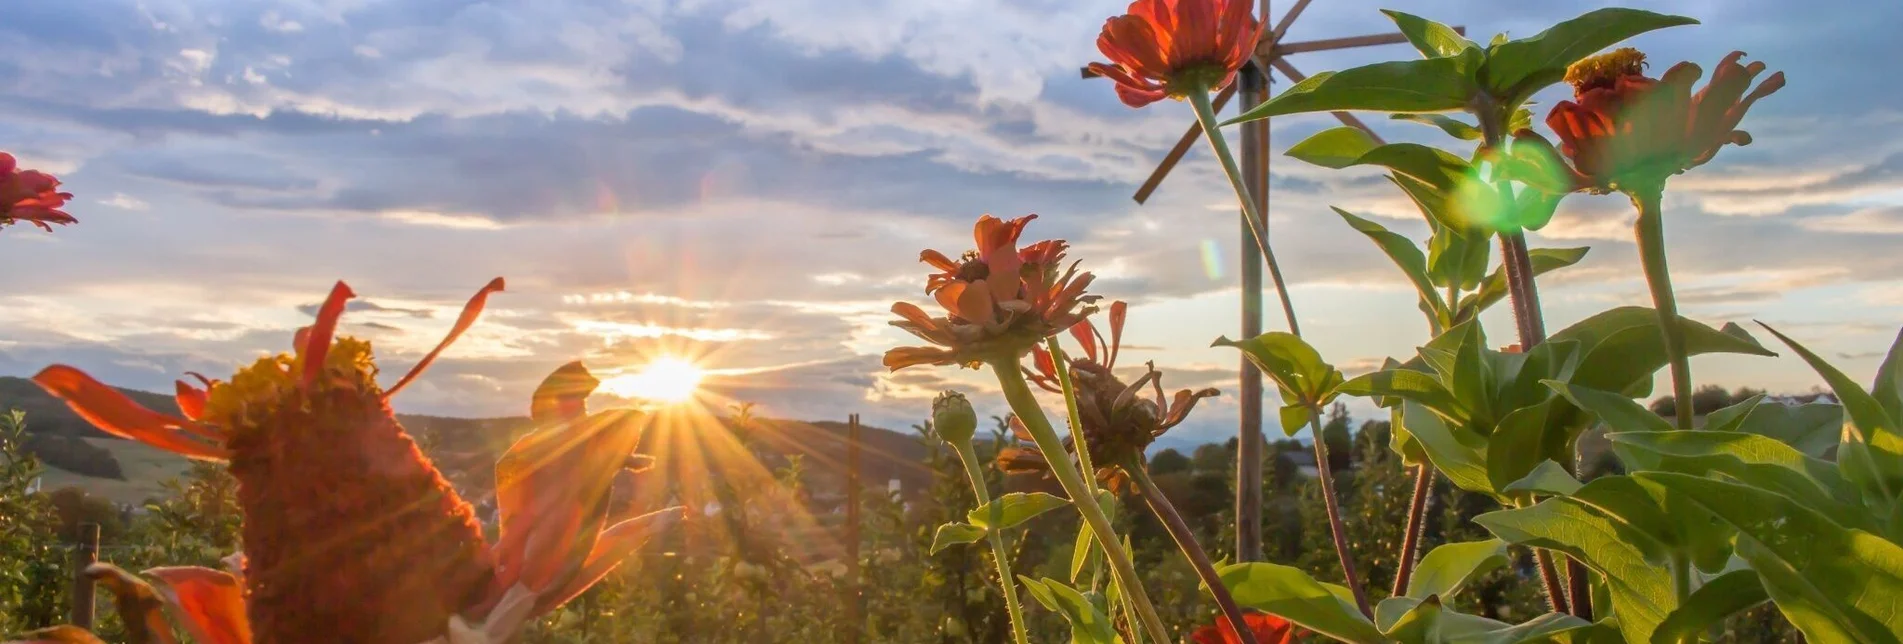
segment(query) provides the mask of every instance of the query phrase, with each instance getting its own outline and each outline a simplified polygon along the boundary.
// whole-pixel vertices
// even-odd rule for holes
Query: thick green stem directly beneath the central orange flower
[[[1125,596],[1136,604],[1136,615],[1142,619],[1144,629],[1149,631],[1149,638],[1168,642],[1170,634],[1163,627],[1163,617],[1157,617],[1157,608],[1149,604],[1149,593],[1144,591],[1144,581],[1136,575],[1130,553],[1123,551],[1117,532],[1109,526],[1109,518],[1104,516],[1104,509],[1096,505],[1096,495],[1090,493],[1083,476],[1077,474],[1077,467],[1071,465],[1071,459],[1064,457],[1064,440],[1058,438],[1056,429],[1050,429],[1045,410],[1037,406],[1037,396],[1031,394],[1031,385],[1024,381],[1024,372],[1018,370],[1016,356],[993,360],[991,372],[997,373],[997,385],[1005,391],[1005,402],[1010,404],[1010,412],[1016,412],[1018,419],[1024,421],[1024,429],[1031,433],[1031,442],[1037,444],[1037,450],[1047,453],[1045,461],[1050,463],[1050,473],[1058,476],[1058,484],[1064,486],[1064,493],[1077,507],[1077,514],[1083,514],[1083,522],[1096,533],[1096,543],[1104,547],[1104,560],[1109,562],[1109,572],[1117,577],[1117,585],[1123,587]]]

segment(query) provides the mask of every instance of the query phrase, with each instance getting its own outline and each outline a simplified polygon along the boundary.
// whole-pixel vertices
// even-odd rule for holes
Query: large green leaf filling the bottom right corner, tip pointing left
[[[1737,556],[1812,642],[1897,642],[1903,547],[1766,490],[1675,473],[1637,476],[1736,526]]]

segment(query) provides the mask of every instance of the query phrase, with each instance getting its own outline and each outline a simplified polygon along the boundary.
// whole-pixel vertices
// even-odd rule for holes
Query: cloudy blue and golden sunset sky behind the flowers
[[[1528,36],[1597,6],[1324,0],[1286,40],[1389,32],[1382,8],[1481,40]],[[1625,6],[1703,21],[1631,42],[1654,72],[1743,50],[1789,76],[1745,120],[1755,145],[1671,183],[1684,312],[1770,322],[1867,381],[1903,322],[1903,90],[1884,82],[1903,53],[1903,4]],[[1239,330],[1235,200],[1203,147],[1148,204],[1130,200],[1191,114],[1174,101],[1132,111],[1106,80],[1079,78],[1123,8],[17,2],[0,21],[0,149],[65,179],[80,223],[0,232],[0,375],[67,362],[148,391],[183,372],[225,377],[287,351],[346,280],[360,299],[343,332],[377,345],[392,383],[504,276],[508,292],[398,396],[400,412],[523,413],[563,362],[613,377],[687,356],[717,400],[773,417],[904,429],[948,387],[1003,413],[988,373],[887,373],[879,354],[913,343],[887,311],[929,303],[919,250],[969,248],[982,213],[1037,213],[1026,240],[1069,240],[1092,290],[1132,305],[1127,364],[1153,360],[1170,389],[1224,389],[1174,433],[1220,440],[1235,433],[1239,356],[1208,343]],[[1313,74],[1404,57],[1382,46],[1290,63]],[[1374,124],[1393,141],[1450,143]],[[1273,147],[1328,126],[1279,118]],[[1422,238],[1412,206],[1374,171],[1283,156],[1271,185],[1273,244],[1321,352],[1353,373],[1425,343],[1406,282],[1326,208]],[[1541,280],[1549,330],[1648,303],[1631,219],[1619,198],[1574,196],[1530,236],[1593,248]],[[1486,318],[1496,345],[1511,343],[1501,312]],[[1697,358],[1694,373],[1821,383],[1789,352]]]

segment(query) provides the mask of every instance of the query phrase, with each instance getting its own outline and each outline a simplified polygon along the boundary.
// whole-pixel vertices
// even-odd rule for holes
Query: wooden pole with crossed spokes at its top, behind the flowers
[[[1313,0],[1296,0],[1296,4],[1283,13],[1283,19],[1275,23],[1275,29],[1264,30],[1256,40],[1256,51],[1252,59],[1243,65],[1237,82],[1216,93],[1212,107],[1216,112],[1233,99],[1237,93],[1243,95],[1243,111],[1250,111],[1262,101],[1269,99],[1269,69],[1281,72],[1290,82],[1302,82],[1307,74],[1302,74],[1294,65],[1288,63],[1288,55],[1304,51],[1330,51],[1330,50],[1353,50],[1382,44],[1406,44],[1406,36],[1401,32],[1391,34],[1372,34],[1372,36],[1349,36],[1349,38],[1324,38],[1324,40],[1305,40],[1305,42],[1283,42],[1288,34],[1288,25],[1307,10]],[[1256,15],[1267,25],[1269,0],[1260,0]],[[1454,27],[1456,32],[1467,34],[1465,27]],[[1083,78],[1094,78],[1096,72],[1083,69]],[[1382,143],[1382,137],[1374,133],[1361,118],[1349,112],[1334,112],[1334,118],[1349,128],[1359,128]],[[1254,120],[1243,124],[1243,145],[1241,145],[1241,164],[1243,164],[1243,185],[1248,187],[1248,194],[1256,200],[1256,211],[1262,213],[1264,221],[1258,221],[1260,231],[1267,234],[1269,231],[1269,120]],[[1197,122],[1189,124],[1189,131],[1184,131],[1182,139],[1176,139],[1176,147],[1163,156],[1157,170],[1144,179],[1144,185],[1136,189],[1136,202],[1144,204],[1149,194],[1163,185],[1163,177],[1170,175],[1176,162],[1195,147],[1197,139],[1203,137],[1203,126]],[[1246,210],[1245,215],[1246,217]],[[1241,280],[1243,280],[1243,337],[1262,335],[1262,250],[1248,242],[1250,223],[1241,221],[1243,244],[1241,244]],[[1267,240],[1264,240],[1267,242]],[[1262,560],[1262,372],[1256,370],[1246,358],[1241,360],[1241,383],[1237,387],[1237,396],[1241,398],[1241,423],[1237,427],[1237,448],[1235,448],[1235,560],[1252,562]],[[1309,436],[1309,440],[1321,440],[1321,436]]]

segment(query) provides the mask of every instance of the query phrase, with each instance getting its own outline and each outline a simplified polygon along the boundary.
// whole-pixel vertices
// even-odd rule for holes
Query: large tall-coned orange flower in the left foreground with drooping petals
[[[99,429],[238,478],[244,564],[236,574],[156,568],[162,594],[204,644],[502,642],[605,575],[674,518],[611,528],[607,492],[639,440],[632,413],[596,413],[571,387],[579,364],[537,391],[540,425],[497,463],[500,539],[483,541],[468,503],[398,425],[390,396],[474,324],[489,282],[403,379],[377,385],[365,341],[337,337],[354,297],[343,282],[297,332],[295,352],[261,358],[228,383],[179,381],[183,417],[141,408],[70,366],[34,375]],[[577,373],[579,372],[579,373]],[[586,377],[584,383],[592,383]]]

